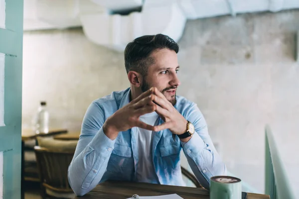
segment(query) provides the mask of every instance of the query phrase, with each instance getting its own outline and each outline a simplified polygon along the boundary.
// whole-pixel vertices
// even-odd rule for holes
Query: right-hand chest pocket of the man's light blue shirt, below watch
[[[164,169],[178,169],[180,167],[180,145],[160,146],[160,155]]]

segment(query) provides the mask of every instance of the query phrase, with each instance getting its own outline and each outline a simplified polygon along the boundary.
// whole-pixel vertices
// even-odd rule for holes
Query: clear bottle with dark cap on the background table
[[[48,133],[49,132],[49,112],[46,109],[46,102],[41,101],[38,107],[37,114],[33,119],[33,130],[36,133]]]

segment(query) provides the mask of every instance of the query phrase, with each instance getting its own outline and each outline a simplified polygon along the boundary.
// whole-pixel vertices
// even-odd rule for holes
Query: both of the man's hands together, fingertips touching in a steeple
[[[141,115],[155,111],[164,123],[151,126],[140,121]],[[187,120],[174,108],[156,88],[151,88],[138,98],[112,114],[104,123],[103,130],[110,139],[115,139],[120,131],[140,127],[152,131],[169,129],[173,134],[186,131]]]

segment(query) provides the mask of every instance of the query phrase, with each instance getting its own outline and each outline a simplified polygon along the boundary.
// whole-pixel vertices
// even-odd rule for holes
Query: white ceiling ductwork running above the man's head
[[[178,41],[187,19],[294,8],[299,0],[24,0],[24,30],[82,26],[90,41],[122,51],[141,35]]]

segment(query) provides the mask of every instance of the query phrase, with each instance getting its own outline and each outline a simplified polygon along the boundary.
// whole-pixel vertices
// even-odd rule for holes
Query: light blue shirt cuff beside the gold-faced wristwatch
[[[192,137],[189,139],[188,142],[182,142],[182,147],[186,154],[189,156],[197,157],[199,153],[203,150],[205,143],[198,135],[198,133],[194,132]]]

